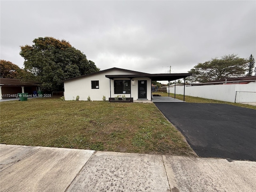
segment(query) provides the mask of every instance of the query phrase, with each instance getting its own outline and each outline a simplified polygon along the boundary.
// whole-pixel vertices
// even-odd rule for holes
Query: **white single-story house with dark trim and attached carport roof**
[[[121,68],[110,68],[63,80],[65,100],[102,100],[125,95],[132,100],[151,100],[152,81],[172,81],[191,74],[148,74]]]

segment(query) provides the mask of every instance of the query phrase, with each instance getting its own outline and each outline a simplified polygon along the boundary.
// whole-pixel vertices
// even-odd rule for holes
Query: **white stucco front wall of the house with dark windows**
[[[102,73],[96,73],[81,78],[75,78],[64,82],[65,100],[75,100],[76,96],[80,96],[79,100],[87,100],[90,96],[91,100],[102,100],[103,96],[106,99],[110,97],[110,82],[111,82],[111,97],[115,97],[118,94],[114,94],[114,80],[130,80],[129,78],[115,78],[110,80],[105,75],[125,75],[132,74],[131,72],[125,72],[121,70],[111,70]],[[99,89],[92,89],[91,81],[99,81]],[[126,97],[133,97],[134,100],[138,99],[138,80],[147,80],[147,98],[151,100],[151,80],[150,78],[134,78],[134,83],[131,82],[131,95],[124,94]],[[123,95],[123,94],[119,94]]]

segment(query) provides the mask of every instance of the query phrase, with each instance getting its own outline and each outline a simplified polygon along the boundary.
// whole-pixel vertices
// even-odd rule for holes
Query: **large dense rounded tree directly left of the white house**
[[[39,37],[33,45],[21,46],[24,69],[42,82],[44,90],[62,90],[61,80],[99,71],[94,62],[66,40]]]

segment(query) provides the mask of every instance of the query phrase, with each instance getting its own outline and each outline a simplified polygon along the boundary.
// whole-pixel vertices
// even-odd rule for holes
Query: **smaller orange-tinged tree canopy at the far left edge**
[[[0,77],[34,80],[34,75],[10,61],[0,60]]]

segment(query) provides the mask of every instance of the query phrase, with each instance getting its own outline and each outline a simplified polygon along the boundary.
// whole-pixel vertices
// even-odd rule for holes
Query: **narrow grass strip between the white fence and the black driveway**
[[[161,96],[168,96],[168,93],[163,93],[163,92],[154,92],[153,94],[159,94]],[[170,93],[170,97],[174,98],[174,94]],[[176,94],[175,98],[183,101],[183,95]],[[223,104],[229,104],[229,105],[245,107],[245,108],[250,108],[250,109],[256,110],[256,106],[252,106],[252,105],[231,103],[231,102],[218,101],[218,100],[213,100],[213,99],[205,99],[205,98],[200,98],[200,97],[192,97],[192,96],[186,96],[186,95],[185,95],[185,101],[189,102],[189,103],[223,103]]]

